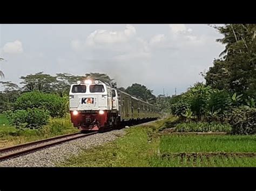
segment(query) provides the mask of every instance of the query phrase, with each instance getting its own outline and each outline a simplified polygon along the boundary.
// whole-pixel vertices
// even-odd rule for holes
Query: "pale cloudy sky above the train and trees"
[[[15,83],[37,72],[107,73],[118,87],[180,94],[204,81],[225,48],[218,38],[205,24],[2,24],[0,70]]]

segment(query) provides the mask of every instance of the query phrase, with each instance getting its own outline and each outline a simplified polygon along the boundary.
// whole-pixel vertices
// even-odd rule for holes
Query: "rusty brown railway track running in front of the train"
[[[62,135],[62,136],[57,136],[57,137],[52,137],[52,138],[47,138],[47,139],[42,139],[42,140],[37,140],[35,142],[29,142],[29,143],[24,143],[24,144],[19,144],[19,145],[14,145],[14,146],[9,146],[9,147],[4,147],[0,148],[0,161],[4,159],[9,159],[12,157],[17,157],[18,155],[30,153],[33,151],[37,151],[41,148],[57,145],[60,143],[68,142],[70,140],[74,140],[77,138],[81,137],[87,137],[90,135],[94,135],[98,133],[96,132],[91,132],[91,133],[71,133],[68,135]]]

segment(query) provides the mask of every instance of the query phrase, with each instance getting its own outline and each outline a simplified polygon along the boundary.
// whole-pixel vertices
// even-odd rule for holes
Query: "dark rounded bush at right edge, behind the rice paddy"
[[[254,134],[256,132],[256,108],[243,106],[234,109],[230,117],[230,124],[233,134]]]

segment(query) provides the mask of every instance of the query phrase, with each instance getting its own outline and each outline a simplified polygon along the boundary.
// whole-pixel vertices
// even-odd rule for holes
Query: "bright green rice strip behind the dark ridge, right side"
[[[256,136],[165,135],[160,152],[256,152]]]

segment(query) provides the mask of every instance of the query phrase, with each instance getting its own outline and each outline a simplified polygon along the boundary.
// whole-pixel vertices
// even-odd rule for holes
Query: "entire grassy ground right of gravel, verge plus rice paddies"
[[[163,122],[126,129],[124,137],[103,146],[84,150],[57,166],[73,167],[252,167],[256,136],[163,135],[154,136]],[[185,152],[185,155],[172,155]],[[197,154],[189,155],[191,152]],[[223,152],[209,155],[209,152]],[[233,156],[232,153],[238,153]],[[169,154],[165,155],[164,154]],[[188,153],[188,155],[186,155]],[[201,154],[200,154],[201,153]]]

